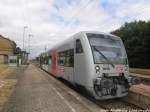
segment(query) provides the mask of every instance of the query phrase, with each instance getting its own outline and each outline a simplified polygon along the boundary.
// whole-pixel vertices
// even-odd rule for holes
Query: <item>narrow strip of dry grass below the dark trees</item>
[[[130,68],[129,71],[131,73],[150,75],[150,69]]]

